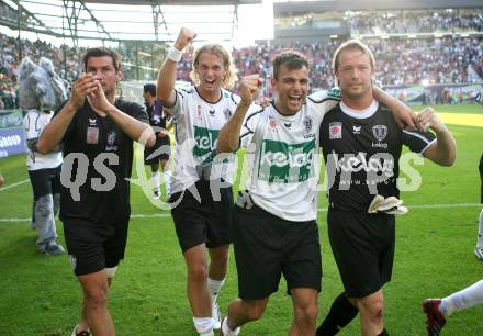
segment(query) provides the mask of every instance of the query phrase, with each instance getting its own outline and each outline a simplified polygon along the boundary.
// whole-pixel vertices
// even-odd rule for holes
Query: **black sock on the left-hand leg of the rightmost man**
[[[342,327],[349,324],[359,311],[355,307],[342,292],[334,300],[330,311],[324,322],[317,328],[317,336],[336,335]]]

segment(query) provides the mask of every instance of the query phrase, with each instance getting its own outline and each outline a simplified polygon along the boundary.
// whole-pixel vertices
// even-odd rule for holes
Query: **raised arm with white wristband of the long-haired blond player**
[[[184,48],[194,37],[196,37],[196,34],[193,31],[182,27],[175,42],[175,46],[169,51],[165,63],[159,69],[156,94],[165,107],[172,107],[176,103],[177,63],[181,59]]]

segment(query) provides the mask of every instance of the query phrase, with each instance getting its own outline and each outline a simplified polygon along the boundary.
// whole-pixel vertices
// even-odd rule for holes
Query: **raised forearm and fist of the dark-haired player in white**
[[[220,131],[218,143],[216,146],[217,153],[231,153],[238,149],[239,135],[245,115],[252,101],[257,98],[261,83],[262,80],[258,75],[246,76],[242,79],[239,86],[242,100],[233,116]]]

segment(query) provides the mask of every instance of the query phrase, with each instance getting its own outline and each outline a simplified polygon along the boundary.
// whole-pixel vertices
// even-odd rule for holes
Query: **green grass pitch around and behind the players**
[[[443,113],[481,119],[478,105],[440,107]],[[453,115],[454,116],[454,115]],[[429,161],[416,169],[423,180],[417,191],[402,198],[411,209],[397,219],[393,279],[384,287],[384,322],[391,335],[426,335],[420,302],[450,294],[480,280],[483,264],[473,256],[481,210],[478,163],[483,128],[469,117],[468,125],[450,125],[457,138],[458,159],[451,168]],[[0,159],[7,183],[0,189],[0,335],[70,335],[80,313],[81,292],[68,256],[37,253],[30,216],[32,192],[25,156]],[[341,291],[341,282],[327,239],[325,195],[319,194],[318,225],[324,279],[319,316]],[[117,335],[196,335],[186,298],[186,267],[169,212],[155,208],[142,190],[132,188],[132,213],[126,258],[111,289],[110,311]],[[61,223],[57,221],[64,245]],[[222,312],[237,295],[236,268],[231,256],[227,282],[220,296]],[[483,335],[483,306],[452,315],[441,335]],[[261,321],[243,328],[243,335],[287,335],[291,299],[282,280],[270,298]],[[360,335],[353,321],[340,335]]]

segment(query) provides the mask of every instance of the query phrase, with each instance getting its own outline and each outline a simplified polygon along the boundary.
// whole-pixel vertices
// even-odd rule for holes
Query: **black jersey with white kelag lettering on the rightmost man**
[[[375,194],[398,198],[402,146],[423,153],[434,139],[429,132],[400,128],[391,111],[375,101],[362,112],[337,104],[321,125],[329,206],[366,212]]]

